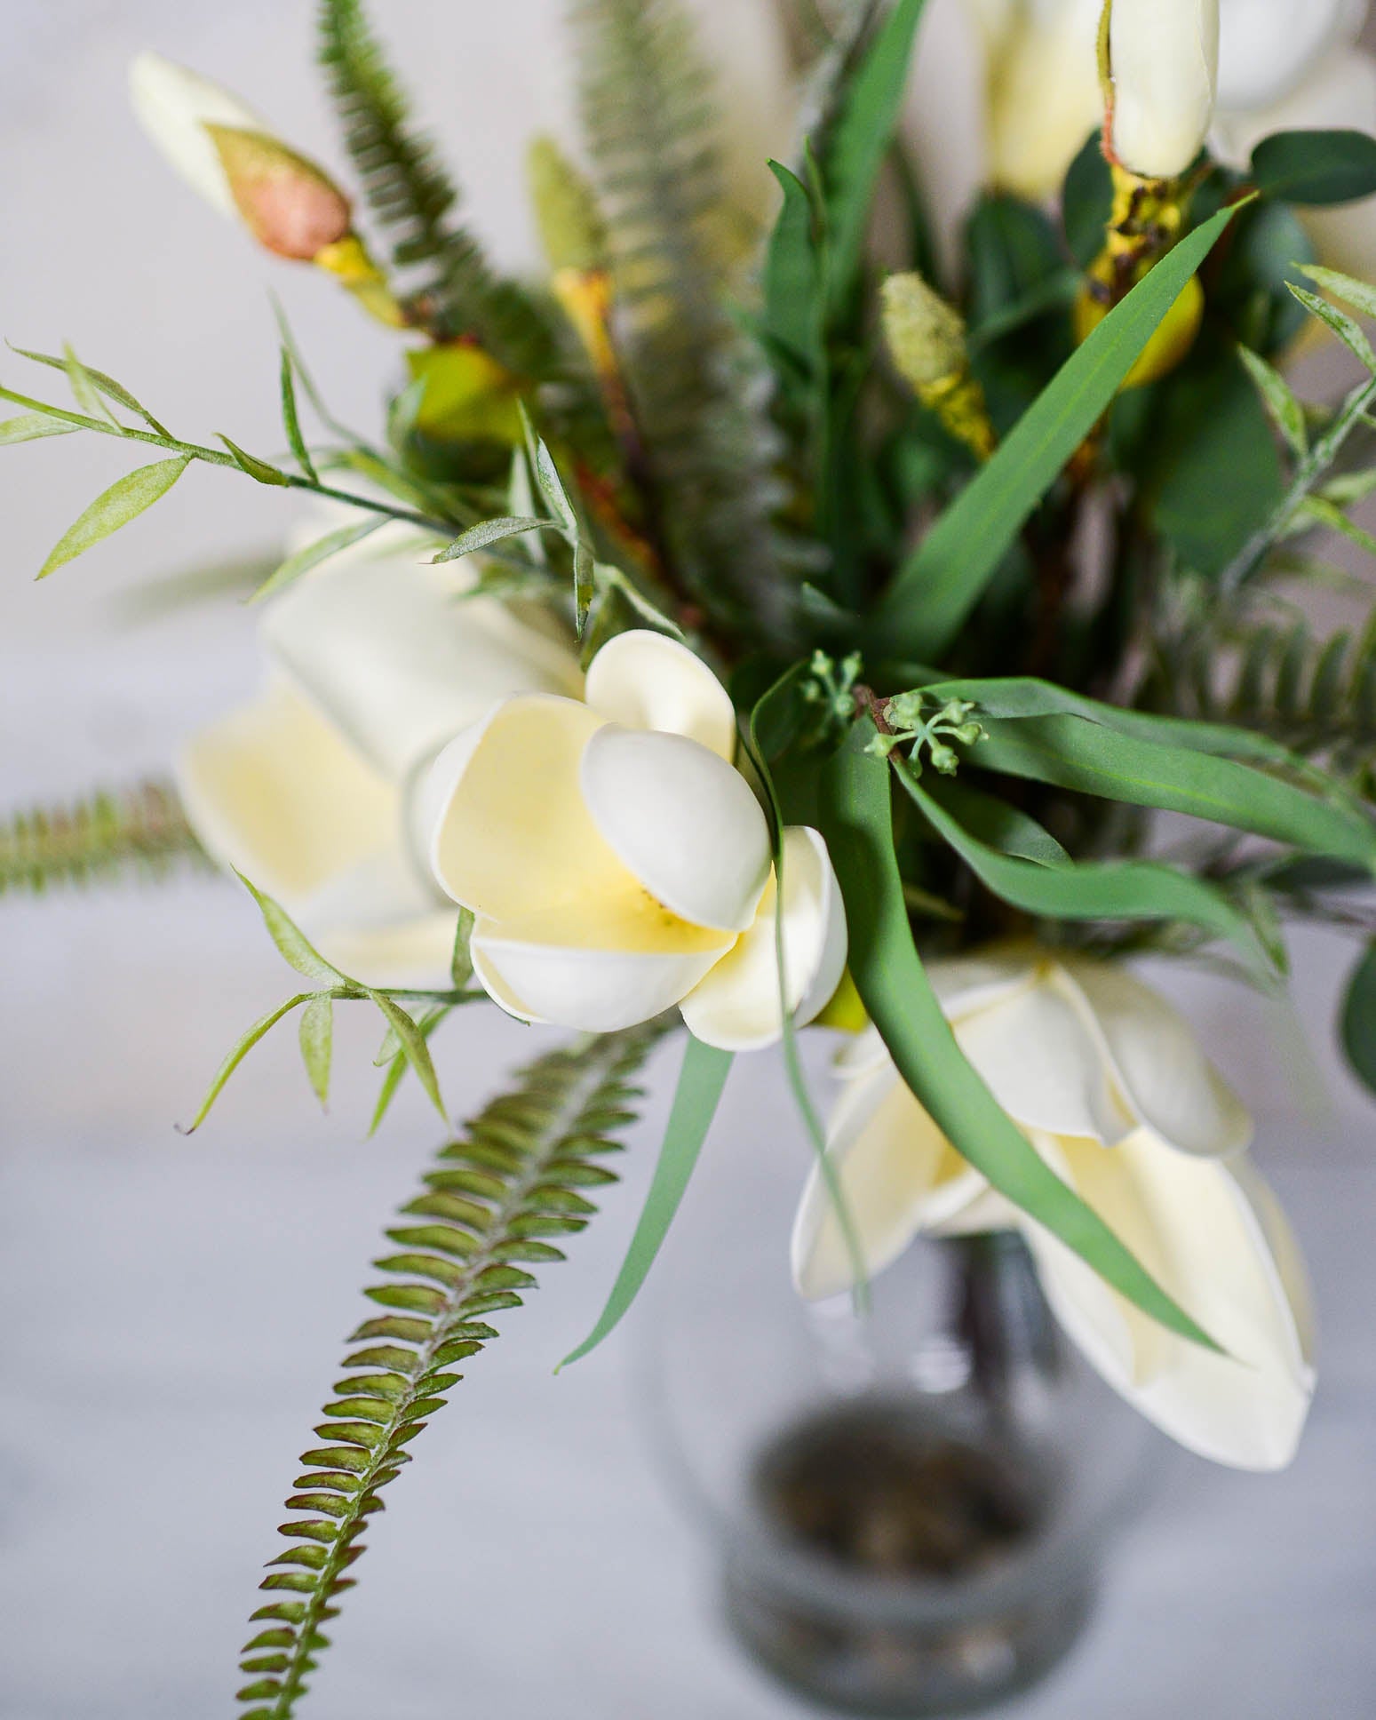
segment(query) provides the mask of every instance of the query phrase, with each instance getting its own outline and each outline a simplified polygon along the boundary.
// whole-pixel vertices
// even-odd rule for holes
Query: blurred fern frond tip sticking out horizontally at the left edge
[[[175,789],[139,783],[69,807],[33,807],[0,822],[0,896],[175,869],[210,870]]]

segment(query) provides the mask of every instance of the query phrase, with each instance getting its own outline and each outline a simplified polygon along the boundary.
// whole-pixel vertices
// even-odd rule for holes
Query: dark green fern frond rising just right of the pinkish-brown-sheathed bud
[[[519,375],[545,375],[557,356],[552,323],[516,282],[492,272],[454,220],[458,186],[433,143],[413,127],[361,0],[322,0],[320,64],[368,206],[392,239],[392,260],[418,270],[411,315],[439,337],[476,337]]]

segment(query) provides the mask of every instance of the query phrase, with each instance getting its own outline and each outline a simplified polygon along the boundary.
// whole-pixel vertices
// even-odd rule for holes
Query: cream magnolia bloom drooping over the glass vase
[[[1182,1445],[1240,1469],[1295,1452],[1314,1388],[1304,1266],[1245,1158],[1250,1120],[1189,1025],[1121,968],[1015,949],[934,961],[961,1051],[1051,1168],[1226,1354],[1175,1336],[1027,1219],[939,1133],[870,1030],[841,1058],[829,1156],[869,1271],[918,1232],[1018,1226],[1047,1302],[1104,1379]],[[850,1288],[820,1175],[793,1271]]]

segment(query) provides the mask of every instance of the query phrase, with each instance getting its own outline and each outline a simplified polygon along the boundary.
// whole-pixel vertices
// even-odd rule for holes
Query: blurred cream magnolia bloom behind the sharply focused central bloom
[[[425,769],[511,693],[576,693],[573,652],[464,562],[418,564],[392,526],[263,611],[270,671],[194,736],[177,781],[196,834],[375,986],[447,986],[458,913],[409,841]]]

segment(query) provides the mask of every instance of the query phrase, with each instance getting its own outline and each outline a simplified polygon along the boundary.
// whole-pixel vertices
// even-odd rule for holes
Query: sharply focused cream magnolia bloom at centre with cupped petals
[[[736,771],[726,688],[686,647],[621,633],[585,700],[518,697],[459,734],[420,800],[433,874],[476,915],[473,970],[526,1022],[611,1032],[683,1006],[752,1049],[841,979],[845,913],[826,845],[784,834],[783,905],[765,815]]]

